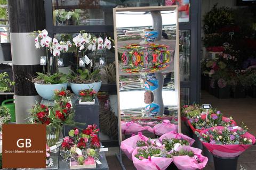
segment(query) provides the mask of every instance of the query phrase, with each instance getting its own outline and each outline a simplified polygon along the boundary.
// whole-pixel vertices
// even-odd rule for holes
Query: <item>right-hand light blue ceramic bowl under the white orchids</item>
[[[75,84],[75,83],[70,83],[70,87],[74,94],[79,96],[79,91],[85,90],[85,89],[93,89],[96,92],[100,90],[101,87],[101,81],[90,83],[90,84]]]

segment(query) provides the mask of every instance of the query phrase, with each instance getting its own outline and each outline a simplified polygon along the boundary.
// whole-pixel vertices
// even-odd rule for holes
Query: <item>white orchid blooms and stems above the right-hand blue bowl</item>
[[[87,33],[85,31],[80,31],[80,33],[73,38],[73,42],[77,49],[76,51],[77,56],[78,56],[78,52],[81,52],[82,56],[86,58],[89,58],[89,57],[87,57],[87,55],[84,55],[85,52],[90,51],[91,54],[94,54],[94,56],[91,55],[90,57],[91,64],[89,66],[90,68],[89,70],[85,69],[84,67],[82,70],[79,69],[79,62],[78,62],[79,58],[77,57],[77,74],[81,74],[81,72],[82,74],[84,72],[89,72],[89,77],[90,77],[90,73],[91,73],[90,70],[92,70],[92,73],[94,71],[99,73],[98,68],[95,68],[96,54],[97,52],[101,52],[101,57],[102,57],[106,49],[111,49],[112,47],[111,38],[106,37],[103,40],[101,37],[97,38],[94,35],[91,35],[90,33]],[[76,75],[75,78],[77,78],[77,80],[81,79],[79,78],[78,75]]]

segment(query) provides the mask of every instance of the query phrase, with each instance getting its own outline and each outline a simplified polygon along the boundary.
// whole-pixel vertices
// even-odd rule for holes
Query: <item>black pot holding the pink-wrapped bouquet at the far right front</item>
[[[215,170],[236,170],[238,157],[223,158],[213,155]]]

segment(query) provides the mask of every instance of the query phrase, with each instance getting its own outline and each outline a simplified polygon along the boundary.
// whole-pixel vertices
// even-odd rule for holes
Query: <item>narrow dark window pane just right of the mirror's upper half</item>
[[[180,81],[190,80],[190,31],[179,31]]]

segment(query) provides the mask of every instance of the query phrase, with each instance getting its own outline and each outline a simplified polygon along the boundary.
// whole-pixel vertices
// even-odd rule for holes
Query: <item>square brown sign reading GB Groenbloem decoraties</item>
[[[3,124],[3,167],[46,166],[45,124]]]

